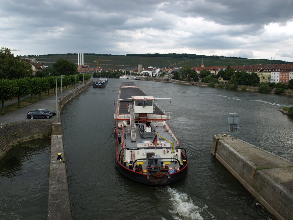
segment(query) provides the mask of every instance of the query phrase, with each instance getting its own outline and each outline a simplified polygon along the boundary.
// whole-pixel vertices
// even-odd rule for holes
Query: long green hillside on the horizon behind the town
[[[39,55],[34,56],[38,62],[43,62],[47,66],[52,67],[52,64],[58,59],[66,59],[77,65],[77,55]],[[202,58],[189,59],[189,58],[171,58],[171,57],[139,57],[139,56],[100,56],[100,55],[84,55],[84,65],[89,67],[96,67],[94,60],[98,59],[98,65],[105,69],[122,69],[126,67],[137,67],[139,63],[144,68],[149,66],[153,67],[174,67],[188,66],[199,67]],[[105,60],[105,61],[103,61]],[[235,59],[235,58],[203,58],[206,67],[210,66],[228,66],[228,65],[257,65],[257,64],[270,64],[277,63],[271,60],[249,60],[249,59]],[[181,64],[178,64],[181,63]]]

